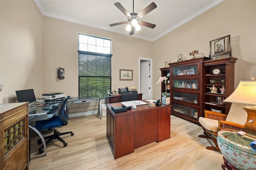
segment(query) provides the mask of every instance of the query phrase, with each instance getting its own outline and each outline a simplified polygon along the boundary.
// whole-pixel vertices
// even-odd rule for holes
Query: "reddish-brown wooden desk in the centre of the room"
[[[146,144],[170,138],[171,105],[139,105],[137,109],[116,114],[110,108],[122,106],[121,103],[106,106],[106,136],[114,159],[130,154]]]

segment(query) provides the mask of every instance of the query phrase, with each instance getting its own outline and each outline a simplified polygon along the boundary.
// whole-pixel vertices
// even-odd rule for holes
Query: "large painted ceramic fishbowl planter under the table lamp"
[[[239,170],[256,169],[256,151],[250,147],[252,140],[236,132],[218,131],[217,143],[224,158]]]

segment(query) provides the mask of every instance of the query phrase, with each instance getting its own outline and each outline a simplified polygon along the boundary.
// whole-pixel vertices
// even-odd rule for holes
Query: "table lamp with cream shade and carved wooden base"
[[[249,105],[243,108],[247,112],[244,129],[248,131],[244,137],[256,140],[256,81],[240,81],[236,90],[224,102]]]

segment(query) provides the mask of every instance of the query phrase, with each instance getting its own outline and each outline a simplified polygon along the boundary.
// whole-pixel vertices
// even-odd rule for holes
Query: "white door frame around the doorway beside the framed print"
[[[149,64],[150,64],[150,66],[149,66],[149,75],[150,75],[150,79],[149,79],[149,87],[150,87],[150,89],[149,89],[149,97],[150,97],[150,99],[152,99],[152,97],[153,97],[153,80],[152,80],[152,75],[153,75],[153,59],[152,58],[144,58],[144,57],[139,57],[139,91],[140,91],[140,64],[141,64],[141,61],[149,61]]]

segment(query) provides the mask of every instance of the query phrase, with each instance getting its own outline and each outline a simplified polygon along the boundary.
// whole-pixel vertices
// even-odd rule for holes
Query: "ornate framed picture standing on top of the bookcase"
[[[210,41],[211,59],[231,57],[230,35]]]

